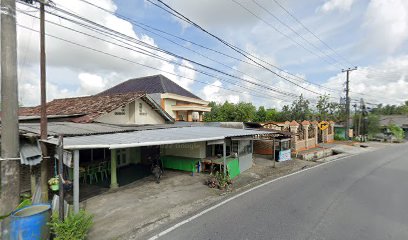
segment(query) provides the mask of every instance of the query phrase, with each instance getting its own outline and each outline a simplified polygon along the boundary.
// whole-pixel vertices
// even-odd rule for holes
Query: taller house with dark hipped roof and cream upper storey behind
[[[202,121],[203,114],[210,112],[209,102],[182,88],[163,75],[130,79],[97,96],[145,92],[176,121]]]

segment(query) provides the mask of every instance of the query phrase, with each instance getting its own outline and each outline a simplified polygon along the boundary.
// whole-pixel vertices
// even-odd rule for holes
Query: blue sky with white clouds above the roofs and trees
[[[46,15],[46,33],[54,36],[46,38],[48,101],[163,74],[208,101],[279,109],[300,94],[312,103],[322,94],[339,102],[342,69],[355,66],[353,102],[408,100],[406,0],[163,0],[252,60],[151,3],[163,6],[156,0],[91,1],[100,8],[82,0],[53,2],[57,9],[47,8]],[[21,3],[17,10],[19,99],[34,106],[40,103],[39,12]],[[84,23],[61,10],[116,36],[67,21]],[[143,54],[146,46],[161,59]]]

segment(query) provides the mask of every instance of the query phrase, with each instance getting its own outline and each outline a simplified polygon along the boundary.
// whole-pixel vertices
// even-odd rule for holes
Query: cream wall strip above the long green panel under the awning
[[[161,155],[171,155],[191,158],[205,158],[205,142],[181,143],[162,145],[160,147]]]

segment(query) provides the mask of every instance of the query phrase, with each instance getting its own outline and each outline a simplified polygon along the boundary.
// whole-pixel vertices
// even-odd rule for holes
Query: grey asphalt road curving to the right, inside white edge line
[[[408,144],[272,182],[159,239],[408,239]]]

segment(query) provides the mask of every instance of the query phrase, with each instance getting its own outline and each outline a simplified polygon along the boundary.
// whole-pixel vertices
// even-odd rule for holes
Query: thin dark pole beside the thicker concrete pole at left
[[[45,0],[40,1],[40,74],[41,74],[41,140],[48,137],[47,133],[47,91],[46,91],[46,69],[45,69]],[[41,143],[43,159],[41,161],[41,200],[48,201],[48,153],[45,143]]]

